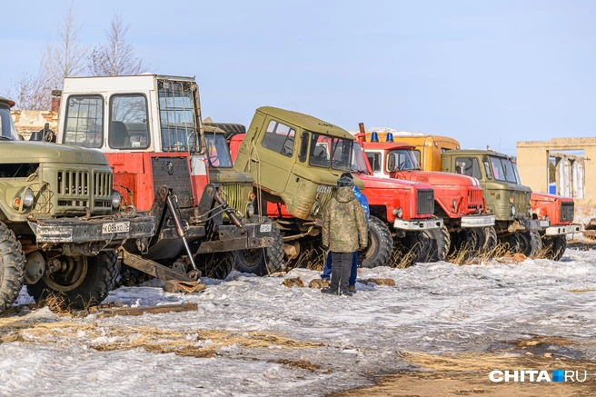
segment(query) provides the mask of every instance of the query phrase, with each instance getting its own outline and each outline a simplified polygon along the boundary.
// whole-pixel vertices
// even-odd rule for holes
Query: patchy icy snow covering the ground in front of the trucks
[[[305,269],[285,275],[300,277],[305,285],[318,276]],[[194,302],[198,310],[68,318],[81,325],[79,331],[52,342],[36,342],[32,333],[25,342],[0,343],[0,395],[323,395],[369,384],[366,373],[408,368],[402,351],[486,352],[534,334],[565,337],[584,358],[596,359],[591,343],[596,251],[569,249],[561,262],[420,263],[408,269],[363,269],[359,275],[362,281],[372,277],[392,278],[396,285],[358,283],[353,297],[329,296],[307,287],[287,288],[283,277],[233,273],[224,282],[205,279],[207,289],[189,295],[164,293],[152,284],[120,288],[106,302]],[[23,319],[65,321],[47,309]],[[90,324],[102,333],[85,331]],[[97,350],[140,337],[109,332],[117,327],[183,332],[186,342],[215,354]],[[237,332],[240,337],[266,332],[321,344],[302,349],[276,342],[258,348],[220,344],[199,338],[204,331]],[[298,368],[280,363],[282,359],[320,368]]]

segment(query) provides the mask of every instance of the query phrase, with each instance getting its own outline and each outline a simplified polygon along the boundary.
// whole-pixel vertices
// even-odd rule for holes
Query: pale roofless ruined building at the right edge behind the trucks
[[[522,184],[537,192],[572,197],[579,204],[596,200],[596,162],[592,159],[596,159],[596,138],[517,143]]]

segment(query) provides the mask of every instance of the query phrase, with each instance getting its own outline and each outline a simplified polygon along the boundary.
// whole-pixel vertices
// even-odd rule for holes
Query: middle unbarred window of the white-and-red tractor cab
[[[107,142],[113,149],[149,147],[147,100],[143,94],[114,95]]]

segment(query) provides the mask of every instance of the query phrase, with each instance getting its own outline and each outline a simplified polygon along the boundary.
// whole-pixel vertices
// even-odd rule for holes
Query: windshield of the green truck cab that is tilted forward
[[[350,171],[352,140],[323,134],[311,135],[311,153],[308,164],[321,168]]]

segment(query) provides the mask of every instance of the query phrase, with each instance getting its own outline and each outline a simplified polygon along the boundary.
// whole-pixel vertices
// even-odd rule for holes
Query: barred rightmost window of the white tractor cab
[[[196,144],[194,84],[159,82],[159,118],[164,152],[186,152]]]

